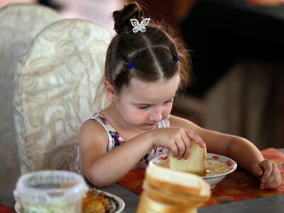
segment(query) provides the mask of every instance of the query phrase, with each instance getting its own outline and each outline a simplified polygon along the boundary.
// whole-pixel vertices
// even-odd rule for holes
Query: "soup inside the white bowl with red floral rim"
[[[163,160],[157,164],[169,168],[168,160]],[[206,159],[206,176],[220,175],[226,173],[229,170],[228,165],[220,160]]]

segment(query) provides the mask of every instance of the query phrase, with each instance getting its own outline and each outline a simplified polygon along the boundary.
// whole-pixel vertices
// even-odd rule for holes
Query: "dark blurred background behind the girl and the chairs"
[[[120,0],[1,0],[43,4],[62,18],[84,18],[113,29]],[[128,1],[129,2],[129,1]],[[283,0],[143,0],[146,16],[165,20],[192,57],[192,83],[173,114],[215,131],[236,134],[259,149],[284,147]],[[0,141],[0,187],[19,175],[16,144]],[[6,179],[5,179],[6,180]]]

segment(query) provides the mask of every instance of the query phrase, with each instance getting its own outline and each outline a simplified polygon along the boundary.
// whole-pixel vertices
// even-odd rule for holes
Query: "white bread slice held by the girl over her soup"
[[[204,176],[206,175],[206,153],[206,147],[202,148],[198,143],[192,142],[190,156],[187,159],[175,158],[173,153],[168,151],[168,165],[172,170]]]

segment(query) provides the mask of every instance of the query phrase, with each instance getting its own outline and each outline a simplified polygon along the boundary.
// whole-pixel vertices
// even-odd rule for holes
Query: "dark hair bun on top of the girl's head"
[[[136,18],[141,21],[143,18],[143,9],[136,2],[132,2],[124,6],[121,11],[114,11],[112,16],[114,18],[114,30],[116,33],[129,33],[133,28],[130,18]]]

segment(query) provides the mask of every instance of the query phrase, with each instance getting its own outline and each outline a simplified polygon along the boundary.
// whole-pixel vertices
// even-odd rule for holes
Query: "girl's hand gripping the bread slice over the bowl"
[[[163,128],[153,131],[154,146],[168,147],[173,155],[179,159],[187,159],[190,155],[191,141],[195,141],[202,148],[205,143],[192,131],[181,128]]]

